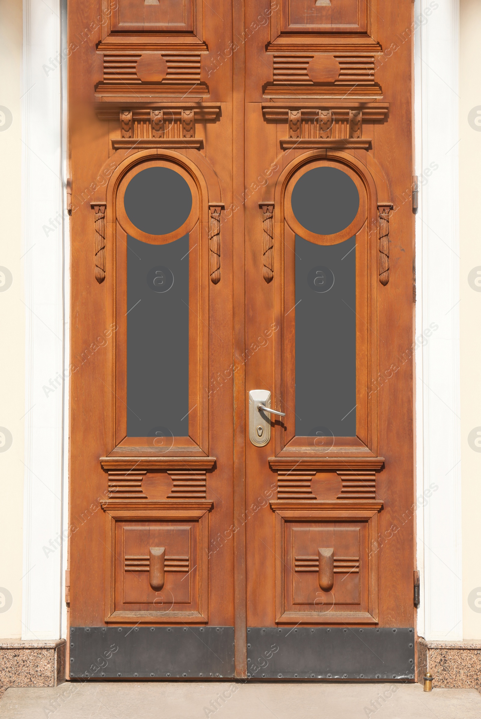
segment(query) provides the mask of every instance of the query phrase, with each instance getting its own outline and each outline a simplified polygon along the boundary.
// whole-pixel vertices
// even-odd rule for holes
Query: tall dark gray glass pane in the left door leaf
[[[188,244],[127,237],[127,436],[164,449],[188,436]]]

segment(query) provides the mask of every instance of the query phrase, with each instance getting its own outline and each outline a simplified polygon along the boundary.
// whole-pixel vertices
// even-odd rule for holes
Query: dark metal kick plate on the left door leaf
[[[70,677],[234,676],[234,627],[71,627]]]

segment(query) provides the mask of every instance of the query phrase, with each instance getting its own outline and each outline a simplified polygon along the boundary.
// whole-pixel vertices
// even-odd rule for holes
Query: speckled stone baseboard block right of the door
[[[433,688],[481,691],[480,641],[418,640],[418,682],[426,672],[433,675]]]

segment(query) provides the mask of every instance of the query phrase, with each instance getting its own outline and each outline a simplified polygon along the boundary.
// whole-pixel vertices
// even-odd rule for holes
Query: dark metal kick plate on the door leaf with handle
[[[414,630],[247,629],[250,679],[413,679]]]

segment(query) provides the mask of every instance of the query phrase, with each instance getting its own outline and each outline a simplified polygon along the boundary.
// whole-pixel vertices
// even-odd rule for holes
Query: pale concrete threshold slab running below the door
[[[1,719],[471,719],[475,689],[420,684],[69,682],[6,690]]]

